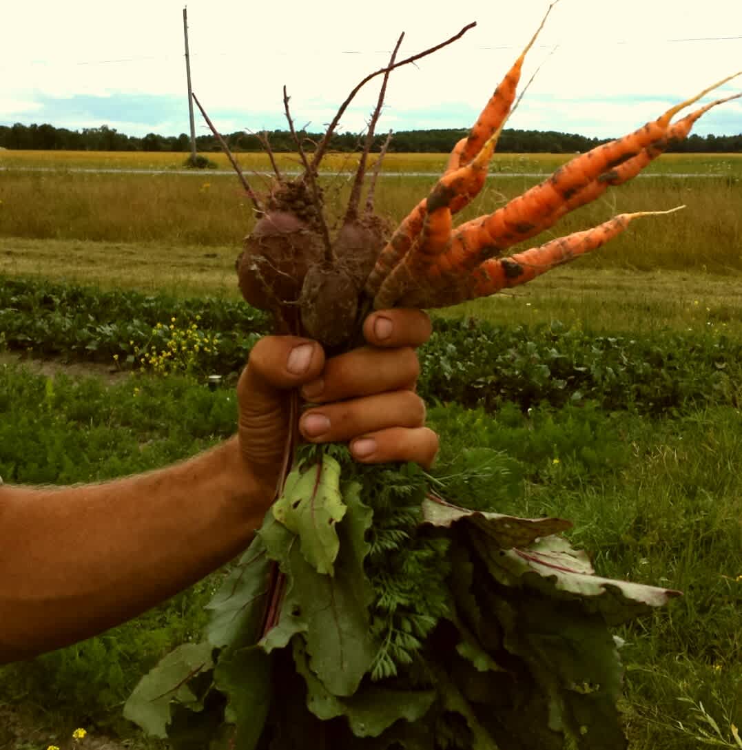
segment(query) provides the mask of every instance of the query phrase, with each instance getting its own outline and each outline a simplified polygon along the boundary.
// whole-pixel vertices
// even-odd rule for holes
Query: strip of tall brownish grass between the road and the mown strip
[[[494,211],[534,178],[493,178],[461,213],[464,221]],[[380,182],[380,214],[398,222],[434,178],[390,176]],[[256,187],[267,184],[256,182]],[[323,180],[328,205],[344,205],[347,179]],[[687,205],[671,216],[638,221],[593,257],[591,268],[727,272],[742,269],[742,181],[647,178],[609,190],[528,245],[585,229],[622,211]],[[336,217],[329,217],[335,223]],[[254,209],[236,180],[212,175],[8,171],[0,182],[0,238],[239,248]],[[524,246],[523,246],[524,247]],[[12,249],[12,248],[10,248]],[[522,249],[522,247],[514,248]]]

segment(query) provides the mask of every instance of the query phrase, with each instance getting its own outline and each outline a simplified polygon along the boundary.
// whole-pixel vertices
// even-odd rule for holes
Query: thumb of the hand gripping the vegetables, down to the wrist
[[[288,435],[290,390],[322,372],[325,355],[316,341],[268,336],[253,347],[237,384],[239,443],[260,484],[275,487]]]

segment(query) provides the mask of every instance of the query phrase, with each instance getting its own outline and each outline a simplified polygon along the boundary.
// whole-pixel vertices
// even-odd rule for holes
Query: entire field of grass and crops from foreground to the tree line
[[[27,284],[29,293],[37,290],[40,299],[55,294],[47,284],[89,287],[80,309],[38,310],[38,320],[55,318],[50,339],[83,320],[86,305],[109,290],[155,296],[165,301],[162,310],[191,299],[179,308],[179,325],[191,323],[189,307],[236,302],[233,263],[251,226],[250,205],[233,177],[173,173],[181,157],[0,152],[6,168],[0,172],[0,292],[11,279]],[[257,154],[240,157],[248,169],[267,166]],[[398,219],[434,182],[399,173],[433,172],[444,157],[390,157],[378,202]],[[335,168],[342,168],[340,158]],[[215,160],[225,166],[218,154]],[[547,172],[562,160],[500,157],[499,178],[488,181],[467,216],[491,211],[533,184],[524,172]],[[38,167],[51,171],[32,171]],[[119,171],[73,171],[79,168]],[[638,221],[619,242],[522,290],[446,311],[448,320],[440,320],[440,333],[421,352],[420,387],[443,444],[437,475],[455,473],[468,447],[491,450],[508,477],[506,488],[497,489],[498,509],[569,517],[572,541],[589,551],[601,574],[685,592],[668,610],[619,633],[626,640],[622,710],[632,750],[739,750],[742,154],[670,155],[653,169],[655,176],[606,193],[554,232],[618,211],[680,203],[685,211]],[[678,176],[689,174],[703,176]],[[343,177],[327,175],[324,184],[338,200],[347,190]],[[59,341],[44,344],[47,323],[34,328],[38,338],[21,343],[17,332],[30,335],[33,321],[14,318],[25,314],[15,294],[14,305],[0,311],[6,315],[0,350],[8,349],[0,359],[0,475],[6,481],[72,483],[140,472],[232,433],[229,387],[211,393],[203,386],[206,371],[185,372],[185,366],[167,377],[100,377],[101,363],[117,369],[120,362],[106,348],[110,341],[64,350],[83,365],[95,360],[95,367],[85,365],[95,377],[80,380],[79,370],[68,377],[59,360],[45,374],[30,374],[19,356],[61,350],[54,348]],[[455,327],[467,317],[500,328],[485,326],[477,334]],[[20,323],[11,334],[14,321]],[[113,337],[124,353],[128,333],[123,341],[116,320],[98,323],[99,334]],[[144,335],[154,323],[143,324]],[[218,323],[209,326],[218,329]],[[221,333],[226,356],[232,332]],[[492,350],[497,341],[506,342],[499,353]],[[493,363],[488,371],[479,367],[485,359]],[[563,391],[554,398],[563,389],[556,373],[567,359],[575,377],[591,384],[581,398]],[[61,374],[52,380],[53,372]],[[496,388],[503,394],[497,398],[489,393]],[[488,491],[486,478],[479,481]],[[164,652],[197,637],[219,575],[101,637],[0,667],[0,748],[68,750],[75,727],[90,731],[82,750],[122,742],[137,750],[162,747],[122,719],[121,703]]]

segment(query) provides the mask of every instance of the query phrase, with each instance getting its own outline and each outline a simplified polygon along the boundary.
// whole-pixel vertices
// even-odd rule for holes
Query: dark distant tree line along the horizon
[[[444,153],[450,151],[467,130],[401,130],[394,133],[389,151],[399,153]],[[287,130],[272,130],[266,133],[273,151],[294,151],[291,134]],[[299,136],[305,148],[311,151],[322,133],[301,131]],[[262,151],[263,145],[257,135],[238,131],[224,136],[233,151]],[[332,137],[330,147],[335,151],[355,151],[361,136],[356,133],[338,133]],[[386,135],[377,136],[374,151],[381,148]],[[497,144],[497,151],[510,154],[570,154],[588,151],[608,139],[586,138],[574,133],[556,133],[554,130],[504,130]],[[219,151],[216,139],[211,135],[197,136],[200,153]],[[190,139],[185,133],[179,136],[161,136],[147,133],[141,138],[119,133],[116,128],[85,127],[83,130],[68,130],[50,124],[11,127],[0,125],[0,147],[15,149],[40,149],[46,151],[191,151]],[[736,136],[697,136],[675,143],[668,151],[719,153],[742,151],[742,133]]]

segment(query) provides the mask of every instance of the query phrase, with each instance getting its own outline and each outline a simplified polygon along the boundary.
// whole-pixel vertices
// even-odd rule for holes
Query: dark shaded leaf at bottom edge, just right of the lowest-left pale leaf
[[[214,670],[215,685],[227,695],[224,718],[236,727],[240,750],[254,750],[271,704],[271,659],[259,646],[222,655]]]

